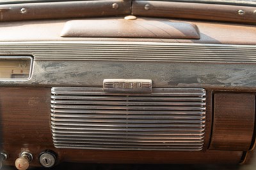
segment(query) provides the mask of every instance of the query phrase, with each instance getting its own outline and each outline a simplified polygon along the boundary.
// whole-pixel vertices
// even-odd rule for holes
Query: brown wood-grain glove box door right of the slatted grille
[[[210,150],[247,151],[252,145],[255,95],[216,93]]]

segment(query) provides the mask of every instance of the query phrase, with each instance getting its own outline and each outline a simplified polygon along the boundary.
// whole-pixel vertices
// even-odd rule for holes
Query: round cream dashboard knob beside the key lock
[[[29,152],[22,152],[20,157],[15,160],[15,167],[19,170],[26,170],[29,167],[29,162],[33,159],[33,156]]]

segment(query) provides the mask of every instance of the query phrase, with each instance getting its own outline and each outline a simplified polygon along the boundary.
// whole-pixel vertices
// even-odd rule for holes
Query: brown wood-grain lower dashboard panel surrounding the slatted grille
[[[58,154],[58,162],[154,163],[154,164],[238,164],[243,151],[207,150],[211,132],[211,90],[207,91],[207,127],[204,151],[102,151],[57,149],[51,135],[51,88],[0,88],[3,150],[13,165],[22,150],[33,156],[31,166],[40,166],[38,155],[44,150]]]

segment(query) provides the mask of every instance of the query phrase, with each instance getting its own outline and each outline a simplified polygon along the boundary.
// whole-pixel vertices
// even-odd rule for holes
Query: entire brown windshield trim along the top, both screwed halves
[[[172,19],[202,19],[255,23],[255,7],[228,4],[205,4],[141,0],[61,1],[45,3],[1,4],[0,21],[68,19],[81,17],[109,17],[136,15]],[[118,8],[113,8],[113,4]],[[132,6],[131,6],[132,4]],[[148,5],[148,10],[145,10]],[[21,9],[24,8],[23,12]],[[244,15],[239,15],[239,10]]]

